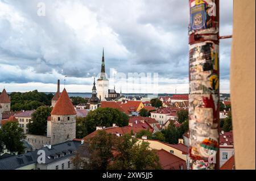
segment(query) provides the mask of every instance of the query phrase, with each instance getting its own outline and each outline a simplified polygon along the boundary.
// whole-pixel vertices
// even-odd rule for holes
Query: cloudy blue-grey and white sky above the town
[[[66,74],[69,92],[90,92],[104,47],[108,74],[152,73],[154,82],[158,73],[160,93],[188,93],[188,7],[188,0],[0,0],[0,89],[56,91]],[[221,1],[220,35],[232,35],[232,10],[233,0]],[[225,93],[230,48],[230,39],[221,40]],[[132,92],[124,80],[115,88]]]

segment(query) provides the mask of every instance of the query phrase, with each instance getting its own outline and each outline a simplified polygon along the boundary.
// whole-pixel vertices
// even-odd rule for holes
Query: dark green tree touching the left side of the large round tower
[[[52,108],[41,106],[32,113],[28,132],[31,134],[44,135],[47,129],[47,117],[51,115]]]

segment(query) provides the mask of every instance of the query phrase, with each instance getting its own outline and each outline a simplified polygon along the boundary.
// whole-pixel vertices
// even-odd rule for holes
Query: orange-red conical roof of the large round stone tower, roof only
[[[65,89],[62,91],[59,100],[53,107],[51,115],[76,115],[76,110]]]

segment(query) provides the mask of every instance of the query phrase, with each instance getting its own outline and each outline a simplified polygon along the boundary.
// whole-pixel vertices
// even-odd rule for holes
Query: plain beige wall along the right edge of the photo
[[[234,0],[230,94],[236,169],[255,169],[255,0]]]

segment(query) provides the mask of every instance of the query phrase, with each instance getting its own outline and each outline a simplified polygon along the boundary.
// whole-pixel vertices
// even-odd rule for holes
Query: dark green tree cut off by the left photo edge
[[[23,132],[23,128],[19,128],[18,121],[7,122],[0,129],[0,143],[6,145],[10,151],[18,151],[19,154],[24,153],[23,140],[26,135]]]

